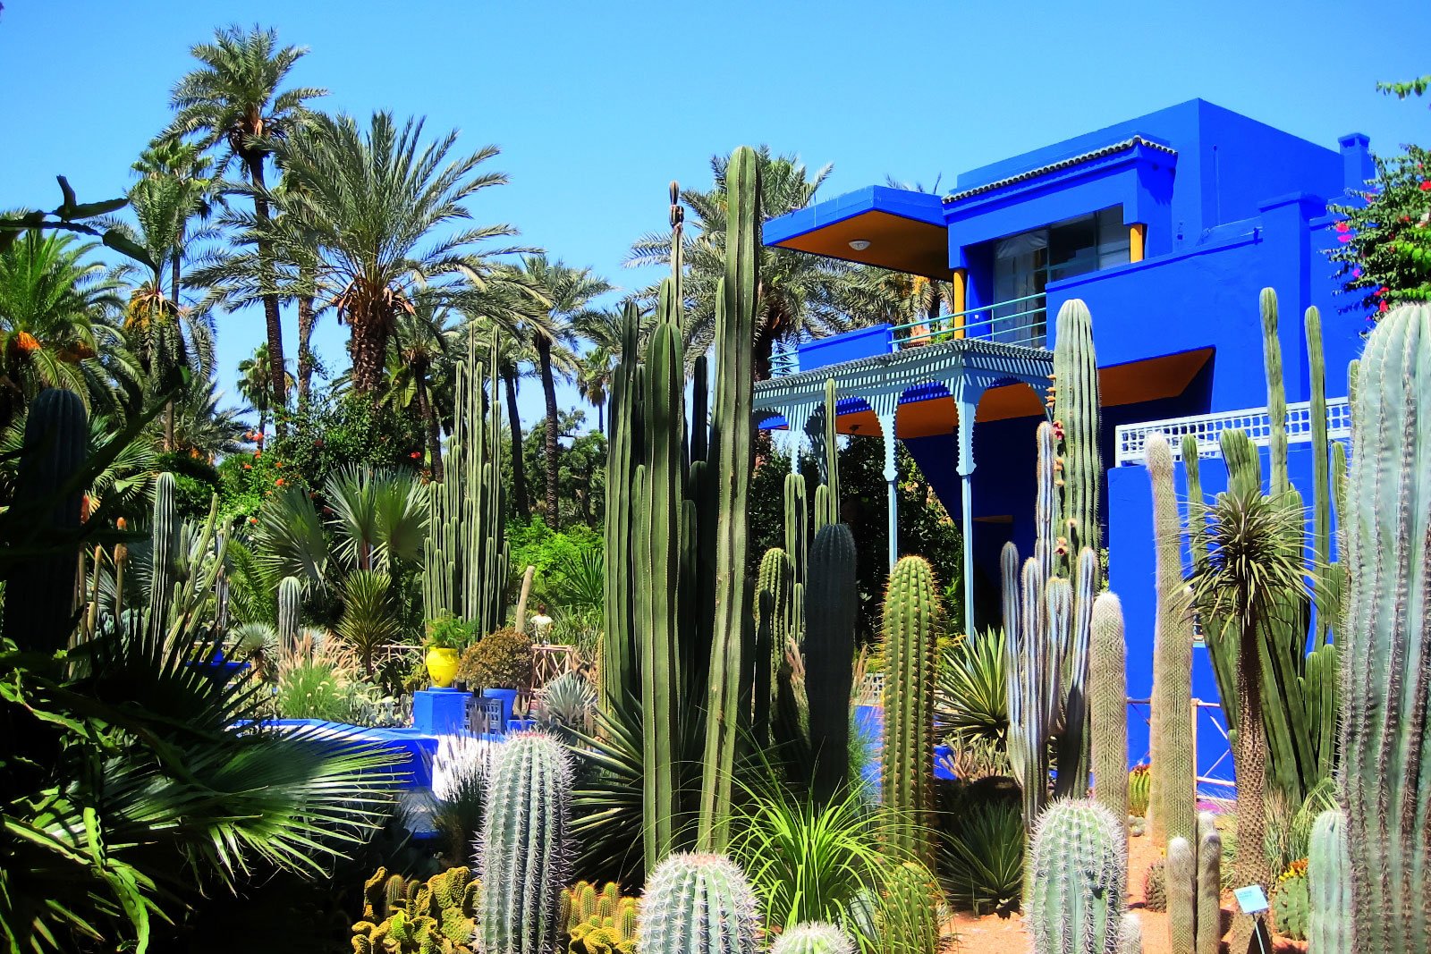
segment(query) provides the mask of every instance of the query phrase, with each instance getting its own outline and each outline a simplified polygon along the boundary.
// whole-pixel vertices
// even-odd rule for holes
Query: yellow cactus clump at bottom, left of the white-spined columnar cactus
[[[478,882],[468,868],[426,881],[378,871],[363,884],[353,954],[469,954]]]

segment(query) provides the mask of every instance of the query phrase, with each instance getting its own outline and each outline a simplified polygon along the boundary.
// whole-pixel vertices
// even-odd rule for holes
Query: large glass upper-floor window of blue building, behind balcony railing
[[[1043,348],[1047,340],[1049,282],[1113,267],[1128,262],[1128,226],[1122,206],[1055,222],[1042,229],[999,239],[993,256],[993,297],[989,336],[1009,345]]]

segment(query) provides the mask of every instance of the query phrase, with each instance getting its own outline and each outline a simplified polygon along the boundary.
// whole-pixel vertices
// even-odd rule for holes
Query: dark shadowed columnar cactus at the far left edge
[[[34,538],[4,541],[9,546],[79,532],[84,488],[76,483],[87,458],[89,423],[79,395],[56,388],[41,390],[24,423],[24,452],[7,513],[10,528]],[[23,526],[17,526],[20,521]],[[76,549],[10,561],[4,635],[21,649],[50,655],[69,639],[79,572]]]

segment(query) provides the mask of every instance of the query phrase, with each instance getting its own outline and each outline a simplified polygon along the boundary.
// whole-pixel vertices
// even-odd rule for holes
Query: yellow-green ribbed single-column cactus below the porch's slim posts
[[[933,821],[934,634],[939,586],[922,556],[904,556],[884,589],[884,804],[907,822],[893,841],[906,854],[933,865],[933,847],[922,834]]]

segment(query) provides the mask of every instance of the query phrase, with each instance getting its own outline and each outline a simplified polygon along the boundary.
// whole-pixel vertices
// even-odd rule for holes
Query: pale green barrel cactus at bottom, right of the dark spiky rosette
[[[1123,825],[1103,805],[1060,800],[1043,812],[1027,895],[1035,954],[1118,954],[1125,857]]]

